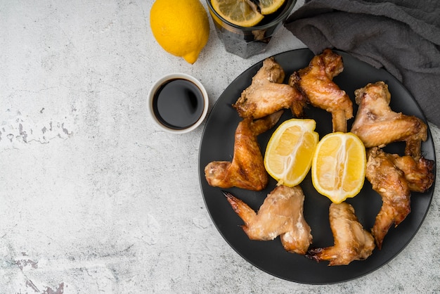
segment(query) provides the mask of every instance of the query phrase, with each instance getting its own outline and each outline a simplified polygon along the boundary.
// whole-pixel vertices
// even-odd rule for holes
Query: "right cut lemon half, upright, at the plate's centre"
[[[333,203],[342,203],[361,191],[366,165],[365,146],[358,136],[343,132],[327,134],[313,155],[313,186]]]

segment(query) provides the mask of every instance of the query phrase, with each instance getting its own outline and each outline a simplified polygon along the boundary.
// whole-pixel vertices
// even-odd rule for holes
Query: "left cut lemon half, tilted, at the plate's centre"
[[[278,185],[297,186],[306,177],[319,135],[310,119],[286,120],[273,132],[264,154],[264,167]]]

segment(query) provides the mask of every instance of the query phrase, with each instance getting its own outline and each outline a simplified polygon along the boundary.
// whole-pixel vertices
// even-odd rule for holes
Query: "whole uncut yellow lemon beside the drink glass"
[[[209,20],[199,0],[157,0],[150,26],[157,43],[188,63],[195,63],[209,38]]]

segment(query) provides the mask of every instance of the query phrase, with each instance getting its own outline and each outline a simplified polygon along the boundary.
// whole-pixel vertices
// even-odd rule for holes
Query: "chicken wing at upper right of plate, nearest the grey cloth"
[[[368,84],[355,91],[358,112],[351,127],[366,148],[384,147],[394,141],[406,141],[406,155],[420,158],[421,141],[427,139],[427,125],[418,117],[395,113],[391,94],[384,82]]]

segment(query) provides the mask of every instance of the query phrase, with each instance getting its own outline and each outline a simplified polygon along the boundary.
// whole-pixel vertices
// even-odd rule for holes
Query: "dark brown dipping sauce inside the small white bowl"
[[[186,129],[202,116],[203,94],[188,79],[171,79],[153,96],[153,112],[170,129]]]

